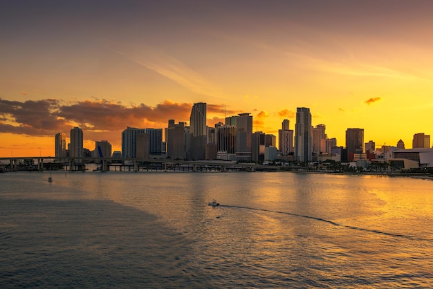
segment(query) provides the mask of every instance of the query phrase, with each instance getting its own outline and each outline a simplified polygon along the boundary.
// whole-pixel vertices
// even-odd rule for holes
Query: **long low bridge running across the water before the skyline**
[[[0,158],[1,162],[9,163],[10,171],[17,171],[19,164],[25,160],[36,160],[37,170],[44,170],[44,163],[59,164],[69,171],[80,171],[85,169],[86,163],[94,162],[100,164],[99,171],[109,171],[113,167],[116,171],[139,171],[149,167],[161,169],[164,171],[180,170],[185,171],[279,171],[280,166],[275,165],[257,165],[254,163],[235,163],[224,160],[171,160],[171,159],[145,159],[145,158],[101,158],[101,157],[53,157],[53,156],[28,156],[28,157],[10,157]]]

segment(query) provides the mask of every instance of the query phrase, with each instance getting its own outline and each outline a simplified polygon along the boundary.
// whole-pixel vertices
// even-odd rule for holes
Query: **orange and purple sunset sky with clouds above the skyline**
[[[433,134],[433,1],[0,0],[0,157],[54,156],[56,133],[121,148],[208,104],[295,129],[297,107],[345,146]]]

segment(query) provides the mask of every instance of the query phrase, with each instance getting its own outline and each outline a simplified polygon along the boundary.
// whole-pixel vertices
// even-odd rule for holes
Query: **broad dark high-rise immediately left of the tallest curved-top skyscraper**
[[[167,157],[185,159],[185,122],[169,120],[167,128]]]

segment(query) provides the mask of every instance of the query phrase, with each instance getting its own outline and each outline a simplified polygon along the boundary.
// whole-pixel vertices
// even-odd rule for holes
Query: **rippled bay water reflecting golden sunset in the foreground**
[[[433,182],[288,172],[15,172],[2,288],[433,286]],[[208,201],[216,198],[221,207]]]

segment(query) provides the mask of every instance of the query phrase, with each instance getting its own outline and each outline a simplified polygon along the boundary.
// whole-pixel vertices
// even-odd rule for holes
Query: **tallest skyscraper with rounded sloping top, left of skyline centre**
[[[204,160],[206,155],[206,104],[195,103],[190,115],[190,159]]]

